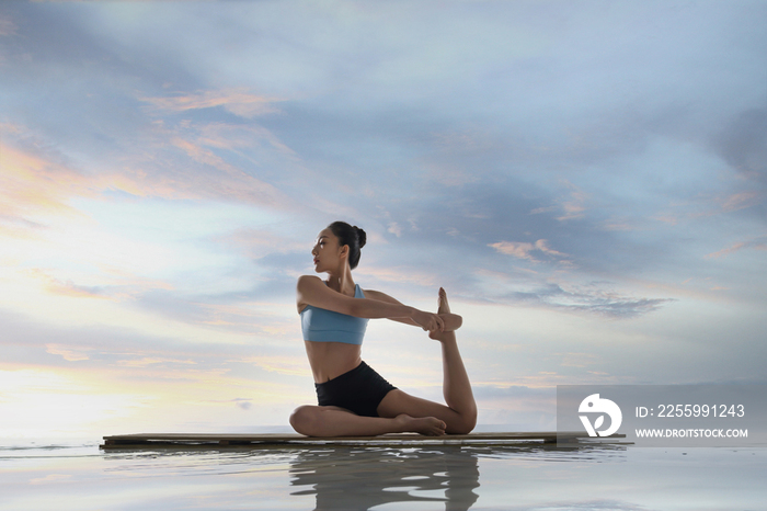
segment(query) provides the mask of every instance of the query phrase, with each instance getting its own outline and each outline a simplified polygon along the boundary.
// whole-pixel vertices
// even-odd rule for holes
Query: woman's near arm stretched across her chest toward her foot
[[[409,318],[424,330],[442,330],[444,321],[439,316],[424,313],[400,303],[381,302],[371,298],[353,298],[328,287],[318,276],[304,275],[296,285],[296,302],[299,310],[307,305],[321,307],[334,313],[357,318]]]

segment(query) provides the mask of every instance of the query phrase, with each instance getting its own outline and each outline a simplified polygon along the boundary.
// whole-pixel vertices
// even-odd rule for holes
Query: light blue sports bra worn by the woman
[[[365,297],[359,284],[355,286],[354,297]],[[366,328],[367,318],[355,318],[311,305],[301,310],[301,330],[307,341],[362,344]]]

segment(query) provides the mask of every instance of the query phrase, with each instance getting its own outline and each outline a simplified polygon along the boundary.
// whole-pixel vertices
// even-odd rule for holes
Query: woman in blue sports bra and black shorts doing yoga
[[[296,302],[319,406],[297,408],[290,425],[309,436],[469,433],[477,423],[477,405],[454,332],[460,316],[450,314],[443,288],[436,314],[363,291],[352,270],[365,241],[364,230],[343,222],[331,224],[311,251],[314,271],[327,273],[328,280],[298,279]],[[447,406],[403,393],[363,362],[362,341],[367,320],[374,318],[421,327],[440,342]]]

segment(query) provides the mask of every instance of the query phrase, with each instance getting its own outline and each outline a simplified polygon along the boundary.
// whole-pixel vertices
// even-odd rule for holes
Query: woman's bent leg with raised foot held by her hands
[[[439,288],[437,314],[449,314],[445,289]],[[447,424],[447,433],[467,434],[477,425],[477,404],[471,391],[471,383],[458,350],[455,332],[432,332],[432,339],[442,343],[443,395],[445,405],[413,397],[402,390],[392,390],[378,406],[381,417],[397,417],[407,413],[411,417],[436,417]]]

